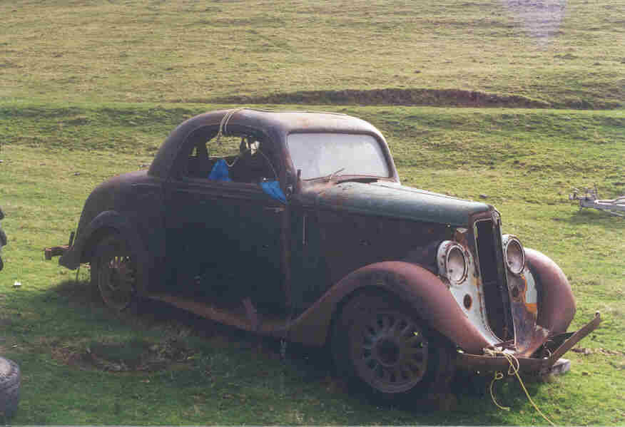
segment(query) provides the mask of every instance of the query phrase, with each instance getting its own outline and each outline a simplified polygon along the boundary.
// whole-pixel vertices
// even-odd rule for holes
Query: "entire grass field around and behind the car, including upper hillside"
[[[459,382],[448,411],[377,406],[347,393],[323,352],[290,346],[283,362],[275,341],[157,304],[116,316],[86,266],[76,277],[44,261],[95,185],[234,102],[364,118],[404,184],[495,205],[504,232],[566,272],[571,329],[597,309],[605,319],[567,355],[569,374],[529,384],[532,398],[557,424],[625,423],[625,220],[567,200],[594,184],[625,193],[624,1],[24,0],[0,16],[0,354],[23,372],[13,423],[546,423],[514,381],[495,386],[511,411],[479,381]]]

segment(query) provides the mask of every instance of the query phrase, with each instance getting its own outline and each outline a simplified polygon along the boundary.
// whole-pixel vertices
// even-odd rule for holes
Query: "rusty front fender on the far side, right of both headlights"
[[[552,334],[566,332],[575,316],[575,298],[566,275],[541,252],[526,248],[525,255],[538,282],[537,324]]]

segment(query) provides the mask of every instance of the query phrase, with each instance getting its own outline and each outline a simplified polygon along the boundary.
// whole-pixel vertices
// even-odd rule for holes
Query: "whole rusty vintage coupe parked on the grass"
[[[235,153],[218,154],[221,138]],[[60,264],[91,263],[114,309],[151,298],[258,334],[329,346],[373,391],[457,368],[548,371],[571,287],[501,234],[494,207],[400,184],[381,133],[335,113],[220,110],[178,126],[149,170],[86,200]]]

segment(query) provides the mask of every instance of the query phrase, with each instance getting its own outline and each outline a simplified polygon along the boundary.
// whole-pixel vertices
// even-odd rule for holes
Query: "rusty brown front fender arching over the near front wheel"
[[[447,286],[416,264],[387,261],[357,269],[340,280],[290,325],[293,341],[322,346],[332,319],[358,289],[377,287],[395,294],[415,315],[464,351],[482,354],[487,340],[458,307]]]

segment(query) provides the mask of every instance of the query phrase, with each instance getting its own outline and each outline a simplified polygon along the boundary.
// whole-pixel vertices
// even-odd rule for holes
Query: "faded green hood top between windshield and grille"
[[[489,205],[391,182],[343,182],[317,194],[317,207],[364,215],[467,226],[469,215]]]

